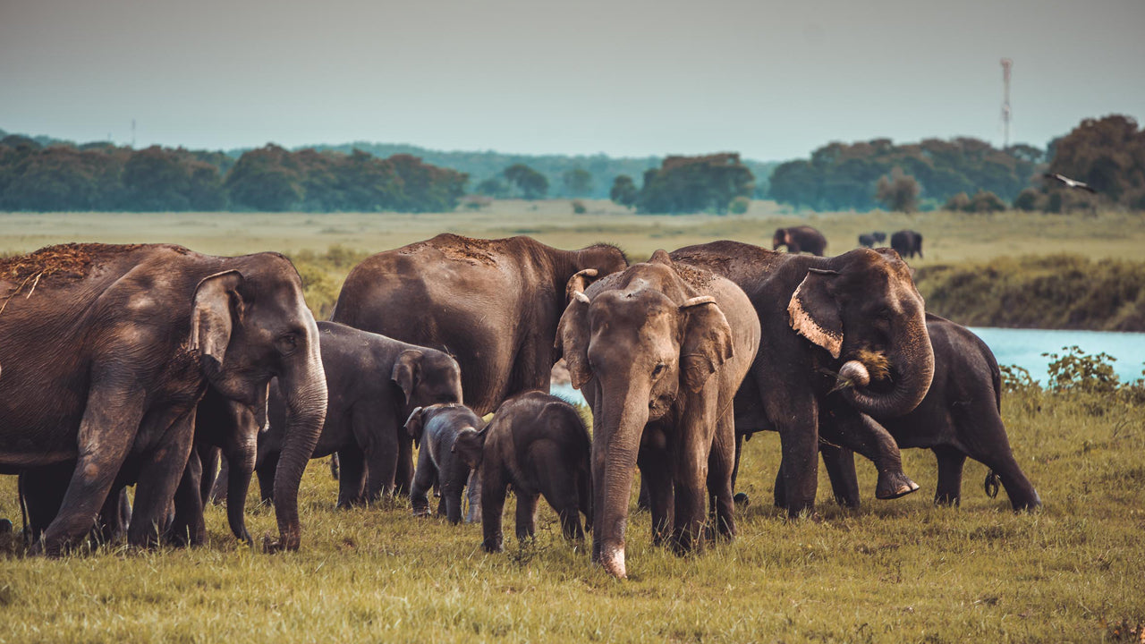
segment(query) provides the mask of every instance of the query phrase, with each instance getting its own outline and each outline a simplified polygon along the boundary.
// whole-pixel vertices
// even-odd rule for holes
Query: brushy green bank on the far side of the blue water
[[[1145,331],[1145,261],[1081,256],[922,266],[926,309],[960,324]]]

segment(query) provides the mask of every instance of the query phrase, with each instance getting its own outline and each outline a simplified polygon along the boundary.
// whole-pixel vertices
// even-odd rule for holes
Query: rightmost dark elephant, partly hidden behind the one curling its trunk
[[[965,327],[938,315],[926,315],[934,347],[934,382],[914,411],[899,417],[878,417],[899,447],[931,449],[938,457],[934,502],[957,505],[962,497],[962,465],[966,456],[984,463],[1005,487],[1011,506],[1032,510],[1042,504],[1034,486],[1013,457],[1002,423],[1002,383],[994,353]],[[823,423],[840,432],[871,419],[835,400]],[[850,450],[823,449],[836,498],[859,505],[859,484]],[[990,477],[987,477],[989,481]]]

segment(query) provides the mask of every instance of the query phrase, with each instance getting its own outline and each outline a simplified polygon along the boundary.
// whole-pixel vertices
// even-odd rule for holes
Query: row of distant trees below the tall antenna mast
[[[810,159],[775,167],[769,196],[813,210],[871,210],[886,203],[877,196],[879,180],[898,168],[917,183],[923,209],[938,207],[963,193],[993,193],[1010,202],[1029,186],[1043,157],[1042,150],[1030,146],[1000,150],[968,138],[902,146],[890,139],[834,142],[812,152]]]

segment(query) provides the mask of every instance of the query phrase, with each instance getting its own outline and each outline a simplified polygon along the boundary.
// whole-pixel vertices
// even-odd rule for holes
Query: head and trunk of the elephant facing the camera
[[[732,355],[732,331],[716,301],[685,283],[663,251],[587,291],[574,281],[556,344],[572,386],[586,388],[592,405],[593,557],[623,578],[645,425],[704,387]]]

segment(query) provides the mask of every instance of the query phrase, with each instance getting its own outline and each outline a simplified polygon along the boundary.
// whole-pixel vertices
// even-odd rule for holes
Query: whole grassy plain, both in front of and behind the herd
[[[62,242],[172,242],[237,254],[290,256],[321,317],[346,273],[369,253],[437,233],[527,234],[560,248],[611,242],[631,258],[719,238],[766,245],[777,226],[810,223],[829,253],[869,230],[925,235],[927,266],[972,266],[1022,256],[1139,264],[1139,214],[946,212],[820,213],[756,203],[745,215],[632,215],[589,202],[497,202],[440,214],[0,214],[0,252]],[[1020,262],[1012,266],[1025,266]],[[925,293],[925,290],[924,290]],[[820,474],[819,517],[788,520],[772,506],[779,440],[744,446],[739,536],[677,557],[650,543],[650,521],[630,515],[630,579],[589,563],[586,544],[560,537],[540,504],[536,541],[506,539],[487,555],[479,525],[414,518],[408,502],[335,511],[337,482],[313,461],[300,490],[298,552],[239,544],[221,506],[207,509],[208,542],[140,551],[108,544],[61,559],[0,552],[0,642],[1145,642],[1145,409],[1134,387],[1047,391],[1003,398],[1014,455],[1044,508],[1010,511],[986,496],[985,466],[968,462],[961,508],[937,508],[929,451],[906,450],[922,486],[874,498],[875,470],[859,461],[859,510],[837,508]],[[635,488],[634,488],[635,489]],[[248,498],[252,534],[275,532],[274,512]],[[506,506],[512,534],[513,501]],[[0,517],[19,526],[15,477],[0,477]]]

